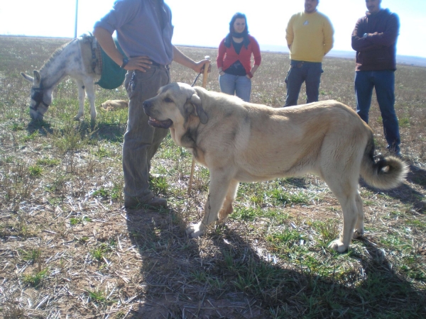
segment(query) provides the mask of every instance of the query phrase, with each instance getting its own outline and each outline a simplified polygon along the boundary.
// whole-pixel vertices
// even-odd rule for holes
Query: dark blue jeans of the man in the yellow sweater
[[[324,71],[322,71],[321,62],[291,60],[290,69],[285,77],[285,84],[287,84],[285,106],[297,105],[303,82],[306,84],[306,103],[317,102],[322,72]]]

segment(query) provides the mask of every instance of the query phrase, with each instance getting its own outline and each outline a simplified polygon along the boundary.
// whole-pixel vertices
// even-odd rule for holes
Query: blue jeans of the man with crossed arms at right
[[[400,152],[398,118],[395,114],[395,73],[391,70],[355,72],[356,112],[368,123],[373,87],[383,119],[388,149]]]

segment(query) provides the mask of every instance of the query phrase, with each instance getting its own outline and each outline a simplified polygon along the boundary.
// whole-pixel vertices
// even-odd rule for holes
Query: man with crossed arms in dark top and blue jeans
[[[356,50],[356,110],[368,123],[374,87],[388,150],[399,156],[400,133],[394,108],[399,18],[389,9],[381,9],[381,0],[366,0],[366,6],[366,16],[359,18],[352,33],[352,48]]]

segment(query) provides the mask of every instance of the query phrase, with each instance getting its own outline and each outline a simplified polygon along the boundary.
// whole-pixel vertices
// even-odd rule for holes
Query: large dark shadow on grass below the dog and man
[[[189,239],[175,211],[130,211],[127,217],[145,287],[128,318],[375,318],[404,309],[426,315],[424,292],[395,274],[367,240],[367,254],[348,253],[360,268],[346,280],[315,274],[302,257],[291,264],[277,259],[257,246],[263,238],[247,240],[252,230],[244,223]],[[339,266],[342,254],[324,254]]]

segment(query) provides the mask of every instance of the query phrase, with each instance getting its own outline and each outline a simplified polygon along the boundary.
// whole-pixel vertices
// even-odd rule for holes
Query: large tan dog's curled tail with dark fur
[[[403,159],[390,155],[376,162],[373,155],[374,141],[371,134],[361,164],[361,177],[368,185],[386,190],[403,182],[408,173],[408,165]]]

